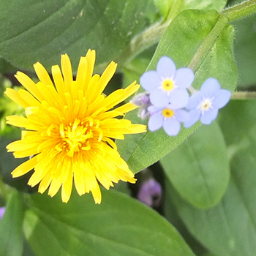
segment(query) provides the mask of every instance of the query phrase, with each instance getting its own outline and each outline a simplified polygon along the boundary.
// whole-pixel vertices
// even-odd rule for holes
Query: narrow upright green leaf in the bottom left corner
[[[0,255],[19,256],[23,251],[23,201],[13,191],[7,203],[4,217],[0,221]]]

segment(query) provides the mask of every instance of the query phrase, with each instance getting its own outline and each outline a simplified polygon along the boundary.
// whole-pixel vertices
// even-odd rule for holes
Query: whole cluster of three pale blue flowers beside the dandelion
[[[176,69],[174,62],[167,56],[159,59],[157,70],[145,72],[141,76],[140,84],[148,91],[145,95],[149,99],[146,107],[143,105],[143,116],[149,116],[148,129],[151,132],[162,127],[167,135],[176,136],[181,123],[188,128],[198,120],[202,124],[211,124],[217,118],[219,108],[223,108],[230,100],[230,91],[221,89],[215,78],[208,78],[200,91],[189,97],[188,89],[193,80],[192,69]],[[143,94],[132,102],[140,106],[141,98]]]

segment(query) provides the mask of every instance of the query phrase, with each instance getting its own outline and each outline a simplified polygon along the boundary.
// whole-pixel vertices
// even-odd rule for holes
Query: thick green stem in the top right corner
[[[237,20],[256,12],[256,0],[244,1],[233,7],[223,10],[220,14],[225,15],[229,21]]]

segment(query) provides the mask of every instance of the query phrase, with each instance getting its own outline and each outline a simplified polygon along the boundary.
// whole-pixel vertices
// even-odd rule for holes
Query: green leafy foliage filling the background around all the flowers
[[[0,1],[0,206],[7,206],[0,255],[255,255],[255,99],[233,99],[213,124],[176,137],[161,129],[118,142],[134,173],[152,165],[164,193],[159,213],[132,198],[136,189],[126,184],[102,189],[100,206],[91,195],[73,193],[66,205],[59,195],[34,193],[29,174],[12,179],[24,159],[5,148],[20,137],[5,116],[22,110],[4,90],[19,86],[17,70],[34,77],[35,62],[50,70],[61,53],[74,73],[89,48],[97,50],[97,72],[118,61],[106,94],[139,80],[164,55],[195,71],[196,89],[214,77],[230,91],[255,91],[256,15],[230,22],[222,12],[239,2]],[[143,122],[136,111],[126,118]]]

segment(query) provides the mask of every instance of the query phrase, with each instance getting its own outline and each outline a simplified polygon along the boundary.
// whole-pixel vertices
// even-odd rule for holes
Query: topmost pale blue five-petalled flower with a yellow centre
[[[176,69],[172,59],[163,56],[157,64],[157,71],[145,72],[140,84],[150,92],[150,100],[157,108],[170,104],[172,108],[186,107],[189,94],[187,88],[194,80],[192,69],[183,67]]]

